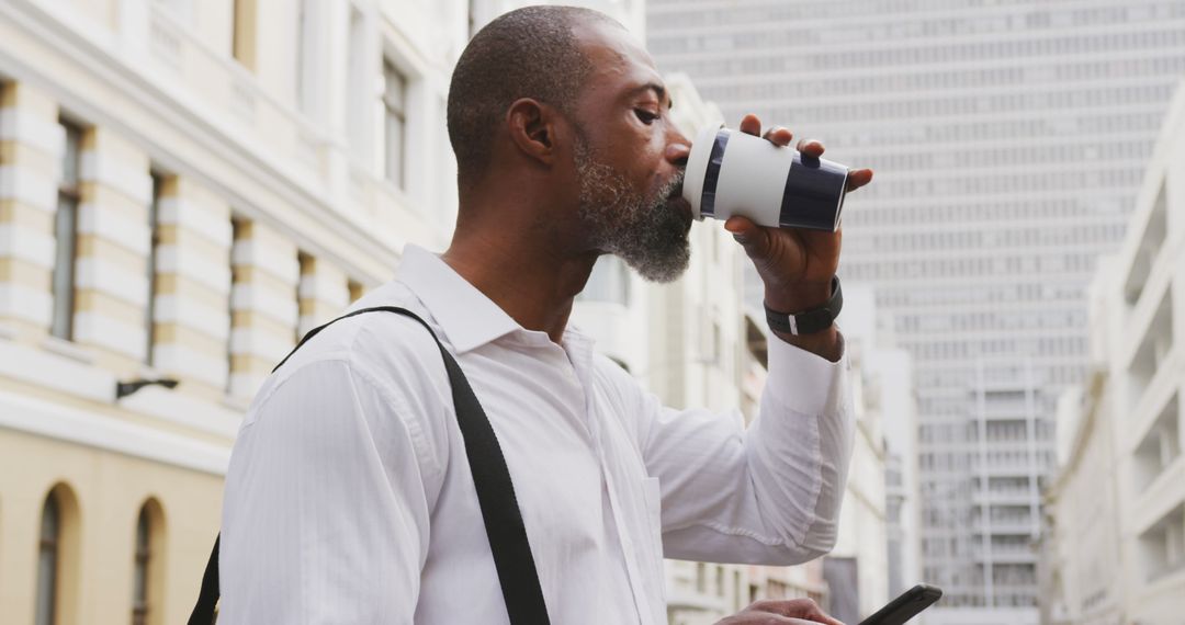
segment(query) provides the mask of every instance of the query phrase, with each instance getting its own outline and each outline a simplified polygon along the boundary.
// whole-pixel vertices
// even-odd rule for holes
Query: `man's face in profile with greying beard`
[[[575,120],[581,223],[594,247],[670,282],[691,258],[691,206],[680,193],[690,142],[667,115],[670,97],[645,50],[613,25],[577,34],[594,65]]]

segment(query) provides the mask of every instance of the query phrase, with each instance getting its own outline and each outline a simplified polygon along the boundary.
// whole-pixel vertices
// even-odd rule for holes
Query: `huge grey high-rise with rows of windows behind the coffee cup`
[[[651,0],[646,22],[730,124],[877,172],[840,273],[916,361],[928,623],[1036,623],[1056,399],[1185,73],[1185,2]]]

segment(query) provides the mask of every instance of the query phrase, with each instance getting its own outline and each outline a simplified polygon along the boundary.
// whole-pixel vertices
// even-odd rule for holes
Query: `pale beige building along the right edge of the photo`
[[[1165,118],[1120,252],[1091,288],[1091,361],[1062,400],[1046,492],[1050,623],[1185,614],[1185,90]]]

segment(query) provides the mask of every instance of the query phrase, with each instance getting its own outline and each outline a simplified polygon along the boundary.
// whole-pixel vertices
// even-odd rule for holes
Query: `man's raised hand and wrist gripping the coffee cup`
[[[761,120],[745,115],[741,131],[761,134]],[[794,134],[786,128],[770,128],[764,137],[775,146],[789,146]],[[819,157],[822,143],[803,138],[796,149]],[[847,191],[856,191],[872,181],[871,169],[852,169],[847,174]],[[724,223],[725,230],[744,246],[757,275],[766,283],[766,305],[781,312],[802,312],[818,308],[831,297],[831,278],[839,266],[843,228],[837,232],[818,230],[760,227],[743,217]],[[779,336],[793,344],[814,352],[828,360],[839,360],[843,343],[834,326],[813,335]]]

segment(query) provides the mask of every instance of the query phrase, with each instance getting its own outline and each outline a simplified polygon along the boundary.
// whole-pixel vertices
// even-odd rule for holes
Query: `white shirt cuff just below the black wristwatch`
[[[769,376],[766,393],[801,414],[835,414],[847,392],[847,348],[838,362],[769,337]]]

